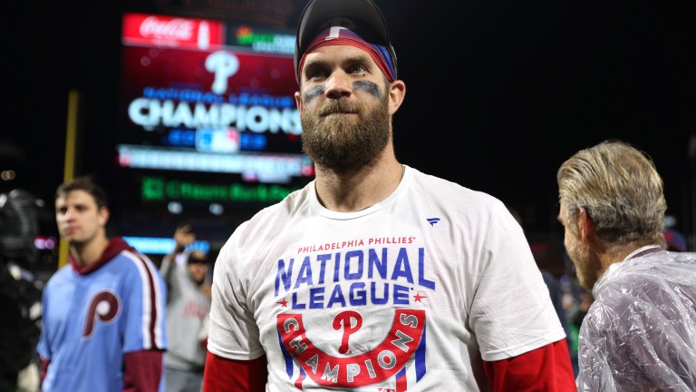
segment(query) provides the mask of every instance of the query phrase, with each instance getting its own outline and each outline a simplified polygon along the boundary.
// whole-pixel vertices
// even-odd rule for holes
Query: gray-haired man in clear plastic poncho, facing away
[[[580,328],[579,391],[696,390],[696,253],[665,249],[662,178],[626,142],[557,172],[565,250],[594,303]]]

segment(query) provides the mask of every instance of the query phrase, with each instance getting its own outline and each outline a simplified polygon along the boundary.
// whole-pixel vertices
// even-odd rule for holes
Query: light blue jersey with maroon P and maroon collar
[[[157,267],[119,238],[87,268],[56,271],[43,289],[42,391],[121,392],[126,353],[168,346],[166,300]]]

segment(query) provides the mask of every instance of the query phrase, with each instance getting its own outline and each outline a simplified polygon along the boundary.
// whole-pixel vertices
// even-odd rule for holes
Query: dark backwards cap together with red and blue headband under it
[[[339,33],[341,40],[336,40]],[[304,6],[295,39],[297,83],[300,82],[304,56],[325,44],[360,47],[372,56],[390,82],[397,78],[396,54],[391,46],[387,22],[372,0],[310,0]]]

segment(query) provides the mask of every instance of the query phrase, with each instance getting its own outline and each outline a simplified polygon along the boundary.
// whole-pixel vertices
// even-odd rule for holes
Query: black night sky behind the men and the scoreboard
[[[5,63],[14,70],[5,73],[12,120],[0,133],[3,166],[12,162],[18,178],[2,186],[51,205],[63,181],[70,90],[84,98],[80,169],[114,176],[121,14],[157,7],[81,0],[39,12],[20,3]],[[407,87],[394,117],[397,158],[498,197],[527,230],[557,231],[557,167],[578,149],[623,139],[650,153],[668,213],[692,232],[696,46],[687,3],[378,1]],[[295,26],[304,1],[291,4]]]

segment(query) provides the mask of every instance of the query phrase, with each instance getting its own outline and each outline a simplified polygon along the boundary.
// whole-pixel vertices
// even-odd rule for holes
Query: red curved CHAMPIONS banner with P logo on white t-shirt
[[[391,328],[381,343],[366,352],[336,357],[325,353],[306,338],[302,314],[277,316],[278,338],[287,356],[300,368],[295,386],[302,389],[304,375],[324,387],[363,387],[396,377],[405,382],[406,369],[416,368],[418,378],[425,372],[425,311],[395,309]],[[362,327],[362,316],[354,310],[338,313],[332,327],[342,330],[336,341],[339,354],[351,352],[351,336]],[[288,358],[288,359],[292,359]],[[290,364],[288,364],[290,365]],[[288,367],[288,376],[293,377]]]

